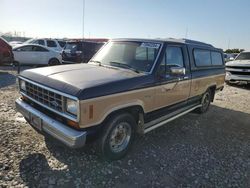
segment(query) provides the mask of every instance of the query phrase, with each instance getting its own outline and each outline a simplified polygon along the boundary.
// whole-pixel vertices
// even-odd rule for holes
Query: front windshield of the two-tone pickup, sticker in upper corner
[[[90,62],[150,72],[160,46],[154,42],[109,42]]]

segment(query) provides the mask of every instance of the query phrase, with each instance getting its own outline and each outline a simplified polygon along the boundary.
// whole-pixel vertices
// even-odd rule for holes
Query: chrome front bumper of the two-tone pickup
[[[79,148],[85,145],[87,132],[76,131],[36,110],[21,99],[16,100],[16,108],[31,122],[31,125],[34,122],[34,127],[63,142],[68,147]],[[35,117],[35,120],[33,117]]]

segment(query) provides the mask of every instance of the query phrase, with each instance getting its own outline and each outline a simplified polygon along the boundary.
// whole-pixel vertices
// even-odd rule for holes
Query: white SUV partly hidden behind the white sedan
[[[57,39],[46,39],[46,38],[39,38],[39,39],[30,39],[25,42],[26,44],[39,44],[42,46],[46,46],[50,49],[53,49],[55,51],[61,52],[64,48],[66,42],[63,40],[57,40]]]

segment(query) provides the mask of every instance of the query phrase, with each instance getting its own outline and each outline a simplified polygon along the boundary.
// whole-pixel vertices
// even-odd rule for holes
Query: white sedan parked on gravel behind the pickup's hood
[[[14,62],[25,65],[59,65],[60,52],[37,44],[24,44],[13,48]]]

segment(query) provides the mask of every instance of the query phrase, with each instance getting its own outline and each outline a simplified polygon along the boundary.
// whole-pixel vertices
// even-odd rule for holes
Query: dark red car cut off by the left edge
[[[9,43],[0,37],[0,65],[11,64],[13,62],[12,47]]]

